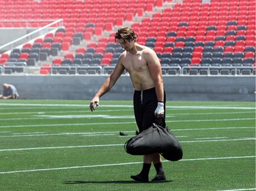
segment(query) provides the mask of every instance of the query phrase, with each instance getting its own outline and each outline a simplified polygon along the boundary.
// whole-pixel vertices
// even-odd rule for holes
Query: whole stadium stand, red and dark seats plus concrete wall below
[[[158,55],[171,99],[255,101],[255,0],[0,1],[0,82],[21,97],[90,99],[126,26]],[[115,98],[130,97],[127,78]]]

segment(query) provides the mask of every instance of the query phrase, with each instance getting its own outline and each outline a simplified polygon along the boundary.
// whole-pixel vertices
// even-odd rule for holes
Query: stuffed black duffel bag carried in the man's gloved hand
[[[128,154],[145,155],[160,153],[166,160],[182,159],[182,146],[171,133],[168,126],[152,124],[150,128],[132,137],[124,144]]]

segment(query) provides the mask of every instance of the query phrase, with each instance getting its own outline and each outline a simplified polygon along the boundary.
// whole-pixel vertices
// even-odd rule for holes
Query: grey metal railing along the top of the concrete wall
[[[30,69],[37,69],[37,73],[31,75],[39,75],[40,69],[48,70],[48,75],[109,75],[115,66],[100,65],[48,65],[47,67],[31,67],[25,62],[9,62],[0,66],[1,75],[19,74],[28,75]],[[163,75],[255,75],[255,66],[162,66]],[[203,72],[202,72],[203,71]],[[128,75],[124,71],[123,75]]]

